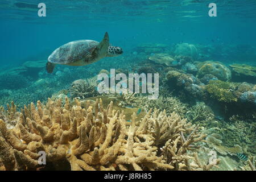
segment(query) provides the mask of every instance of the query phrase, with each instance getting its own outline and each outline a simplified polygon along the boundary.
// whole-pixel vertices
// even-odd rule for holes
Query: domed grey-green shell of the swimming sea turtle
[[[94,40],[76,40],[55,49],[48,61],[53,64],[69,64],[89,56],[99,42]]]

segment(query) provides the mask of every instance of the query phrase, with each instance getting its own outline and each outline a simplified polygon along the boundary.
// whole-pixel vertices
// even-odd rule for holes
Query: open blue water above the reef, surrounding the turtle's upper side
[[[46,17],[38,16],[40,2]],[[217,17],[208,16],[210,2],[217,4]],[[100,41],[106,31],[110,42],[125,50],[144,42],[256,44],[254,0],[2,0],[0,10],[1,66],[46,60],[64,43]]]

